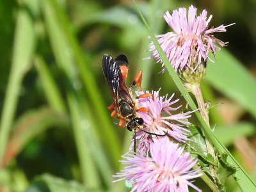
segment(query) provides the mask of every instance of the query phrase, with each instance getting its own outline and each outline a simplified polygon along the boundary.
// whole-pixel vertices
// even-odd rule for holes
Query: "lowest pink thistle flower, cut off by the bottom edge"
[[[186,192],[188,186],[202,191],[189,180],[200,177],[200,169],[191,170],[197,159],[189,158],[189,152],[183,147],[174,144],[168,139],[163,142],[154,142],[150,145],[151,157],[141,156],[129,152],[121,161],[124,170],[114,177],[123,177],[116,181],[126,179],[132,183],[131,191],[176,191]],[[116,182],[113,181],[113,182]]]

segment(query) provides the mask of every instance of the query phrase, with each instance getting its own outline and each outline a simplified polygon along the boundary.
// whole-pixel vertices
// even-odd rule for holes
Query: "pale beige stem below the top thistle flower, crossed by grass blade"
[[[209,123],[209,112],[205,108],[204,98],[203,98],[203,95],[202,95],[202,91],[200,89],[200,84],[188,84],[188,83],[185,83],[185,87],[186,87],[186,89],[188,89],[188,91],[192,92],[195,95],[196,102],[197,102],[197,105],[198,105],[198,108],[199,108],[199,112],[202,115],[202,117],[204,118],[204,120],[207,123],[207,125],[210,126],[210,123]],[[205,136],[205,142],[206,142],[207,151],[209,152],[209,154],[211,154],[211,156],[214,159],[216,159],[214,148],[213,148],[213,144],[212,144],[210,138],[205,133],[204,129],[202,129],[202,132],[203,132],[203,134]]]

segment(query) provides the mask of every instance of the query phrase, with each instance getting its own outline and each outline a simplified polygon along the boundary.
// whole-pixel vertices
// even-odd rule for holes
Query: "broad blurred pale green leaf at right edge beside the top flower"
[[[225,48],[218,52],[215,64],[207,65],[205,79],[256,118],[256,80]]]

